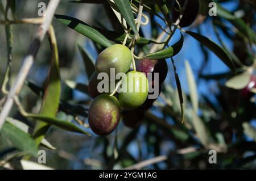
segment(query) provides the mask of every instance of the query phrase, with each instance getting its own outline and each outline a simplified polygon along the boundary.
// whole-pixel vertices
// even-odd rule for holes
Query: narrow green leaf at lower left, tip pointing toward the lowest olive
[[[56,119],[54,117],[49,117],[49,116],[46,116],[46,115],[31,114],[31,113],[26,114],[26,117],[30,117],[30,118],[33,118],[33,119],[38,119],[40,121],[43,121],[44,123],[47,123],[47,124],[50,124],[50,125],[55,125],[56,127],[59,127],[61,129],[65,129],[67,131],[83,133],[83,134],[86,134],[86,135],[90,136],[89,133],[85,132],[83,129],[81,129],[77,125],[69,123],[68,121],[59,120],[59,119]],[[40,134],[40,131],[38,131],[37,133]],[[35,134],[35,136],[40,136],[40,135]]]

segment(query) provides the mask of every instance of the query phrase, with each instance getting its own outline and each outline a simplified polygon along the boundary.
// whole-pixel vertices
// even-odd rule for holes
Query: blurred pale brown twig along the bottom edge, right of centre
[[[163,162],[166,160],[167,160],[167,155],[161,155],[159,157],[147,159],[146,161],[142,161],[142,162],[136,163],[135,165],[126,167],[125,170],[142,169],[143,167],[153,165],[155,163]]]

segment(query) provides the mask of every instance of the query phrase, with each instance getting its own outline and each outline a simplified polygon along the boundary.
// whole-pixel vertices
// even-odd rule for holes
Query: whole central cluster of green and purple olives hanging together
[[[89,79],[89,93],[94,98],[90,104],[88,120],[92,131],[98,135],[107,135],[117,127],[121,114],[123,121],[129,127],[134,127],[143,117],[143,112],[152,105],[155,99],[148,99],[148,87],[154,87],[154,77],[148,81],[148,73],[159,73],[158,88],[161,87],[167,75],[166,60],[143,59],[136,62],[137,71],[130,70],[133,60],[130,49],[125,45],[114,44],[103,50],[96,60],[96,71]],[[120,91],[117,94],[113,89],[108,92],[98,91],[98,74],[106,73],[110,76],[123,73],[120,87],[126,87],[127,91]],[[117,83],[115,79],[109,79],[110,83]],[[109,86],[110,87],[110,86]]]

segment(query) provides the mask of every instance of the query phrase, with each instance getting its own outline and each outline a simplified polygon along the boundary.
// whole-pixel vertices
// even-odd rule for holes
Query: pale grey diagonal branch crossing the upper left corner
[[[15,83],[9,94],[7,95],[7,100],[3,106],[2,112],[0,113],[0,129],[2,128],[3,123],[5,123],[6,117],[9,115],[11,107],[14,103],[14,96],[19,94],[20,89],[22,89],[23,83],[26,80],[27,74],[30,71],[30,68],[35,60],[36,54],[38,53],[40,44],[42,43],[44,36],[52,22],[53,15],[57,6],[59,5],[60,0],[51,0],[48,4],[46,13],[44,14],[43,24],[38,27],[36,32],[35,39],[30,45],[27,56],[24,58],[22,68],[20,68],[19,73],[16,77]]]

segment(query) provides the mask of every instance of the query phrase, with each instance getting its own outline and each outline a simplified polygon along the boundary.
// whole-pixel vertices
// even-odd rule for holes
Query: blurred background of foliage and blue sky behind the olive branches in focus
[[[16,1],[16,18],[38,17],[39,2],[48,3],[43,0]],[[61,1],[56,14],[72,16],[90,26],[123,33],[108,3],[96,2]],[[163,2],[167,3],[167,1]],[[2,0],[2,3],[6,5],[6,1]],[[52,150],[42,145],[39,148],[46,150],[45,166],[53,169],[122,169],[150,159],[156,163],[135,168],[255,169],[255,89],[246,88],[253,82],[249,81],[250,77],[254,76],[254,84],[256,82],[253,75],[255,74],[255,3],[245,0],[226,0],[218,3],[230,11],[232,16],[236,16],[236,19],[199,14],[192,26],[184,30],[200,33],[225,49],[233,61],[237,74],[230,71],[216,54],[184,33],[183,48],[174,56],[176,72],[183,89],[184,124],[181,123],[179,91],[176,87],[174,68],[171,59],[168,58],[169,71],[158,100],[143,114],[134,113],[135,117],[130,117],[131,120],[139,117],[142,123],[129,128],[121,119],[118,128],[106,137],[96,136],[88,128],[86,115],[92,99],[84,89],[88,83],[88,76],[84,57],[81,56],[78,45],[89,52],[93,61],[104,47],[93,43],[54,18],[52,24],[59,48],[61,75],[60,106],[56,117],[72,124],[80,124],[80,128],[92,136],[68,132],[52,126],[46,134],[46,140],[56,149]],[[149,2],[148,6],[160,14],[156,3]],[[162,32],[159,26],[164,24],[157,16],[148,12],[146,15],[150,17],[150,23],[142,27],[140,33],[147,39],[156,39]],[[162,14],[160,16],[163,17]],[[1,14],[0,19],[4,18]],[[242,26],[246,27],[241,28],[240,21],[243,22]],[[8,87],[14,83],[37,27],[33,24],[11,25],[13,48]],[[244,31],[241,32],[247,27],[250,28],[252,36],[246,36],[243,34]],[[173,45],[179,37],[180,33],[177,31],[169,45]],[[3,82],[7,66],[5,24],[0,24],[0,42],[2,65],[0,78]],[[148,47],[150,45],[139,45],[137,53],[147,52]],[[19,94],[20,102],[27,112],[40,111],[42,90],[39,87],[44,87],[46,84],[51,54],[46,38],[27,77],[27,83]],[[234,77],[236,75],[240,76]],[[231,78],[233,81],[230,81]],[[75,89],[74,83],[81,85]],[[3,96],[1,92],[1,98]],[[22,115],[16,106],[13,107],[10,117],[31,128],[35,126],[35,121]],[[217,151],[216,164],[208,162],[210,156],[208,151],[211,149]],[[5,161],[10,163],[13,169],[22,168],[20,159],[23,157],[17,153],[19,149],[1,135],[1,168],[4,168]],[[30,160],[37,161],[34,157]]]

